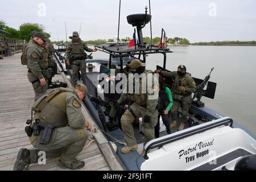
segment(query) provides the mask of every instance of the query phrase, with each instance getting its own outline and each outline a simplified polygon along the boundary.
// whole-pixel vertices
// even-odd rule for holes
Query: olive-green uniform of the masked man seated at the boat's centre
[[[131,63],[131,68],[133,67],[132,63]],[[133,130],[134,119],[140,118],[140,117],[143,118],[142,125],[144,127],[144,136],[145,136],[144,144],[146,144],[148,141],[155,138],[154,127],[158,122],[158,110],[156,109],[156,106],[158,105],[158,95],[154,97],[154,100],[153,100],[152,98],[150,98],[150,95],[151,95],[150,93],[152,93],[152,90],[147,89],[147,93],[142,93],[142,82],[147,83],[147,74],[152,72],[145,70],[143,73],[145,74],[145,76],[142,77],[142,79],[139,81],[140,93],[133,93],[133,94],[122,93],[121,97],[118,100],[118,104],[121,104],[122,102],[126,101],[127,98],[133,102],[133,104],[129,106],[129,109],[127,109],[125,113],[122,115],[121,125],[122,125],[122,131],[123,131],[127,146],[128,147],[136,146],[134,147],[135,150],[137,148],[137,141],[135,139],[134,130]],[[127,82],[127,85],[128,85],[128,82]],[[153,83],[152,84],[153,88],[154,88],[154,85],[158,85],[158,83],[157,84],[156,82]],[[149,122],[144,122],[145,115],[150,117]],[[127,152],[129,152],[129,150]],[[123,152],[123,153],[126,153],[126,152]]]

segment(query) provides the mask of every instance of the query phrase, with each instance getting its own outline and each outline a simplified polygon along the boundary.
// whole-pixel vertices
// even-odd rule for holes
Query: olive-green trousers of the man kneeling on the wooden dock
[[[45,151],[46,158],[60,156],[62,162],[72,164],[88,139],[86,129],[73,129],[70,126],[55,129],[49,144],[40,144],[41,134],[32,142],[32,146],[37,149],[30,150],[31,164],[38,162],[39,151]]]

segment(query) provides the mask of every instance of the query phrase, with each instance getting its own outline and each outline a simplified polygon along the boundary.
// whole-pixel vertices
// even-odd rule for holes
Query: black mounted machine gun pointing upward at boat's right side
[[[214,69],[214,68],[211,69],[210,73],[212,73],[213,69]],[[207,85],[207,82],[208,82],[209,79],[210,79],[210,73],[209,73],[209,75],[207,75],[207,76],[204,78],[204,81],[201,82],[201,84],[197,86],[196,92],[195,92],[195,94],[194,94],[192,100],[189,101],[189,104],[192,103],[193,105],[196,105],[197,107],[204,107],[204,103],[201,102],[200,100],[201,100],[201,97],[204,95],[204,92],[205,92],[204,87],[205,87],[205,85]],[[194,101],[195,98],[197,98],[196,101]]]

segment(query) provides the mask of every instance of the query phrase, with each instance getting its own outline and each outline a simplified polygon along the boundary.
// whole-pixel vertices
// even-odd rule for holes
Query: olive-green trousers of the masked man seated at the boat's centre
[[[144,118],[144,115],[146,114],[146,108],[142,107],[135,102],[130,106],[130,108],[133,110],[134,114],[140,118]],[[125,141],[127,146],[131,147],[137,144],[137,141],[134,136],[134,130],[133,130],[133,122],[134,117],[130,113],[129,110],[126,110],[125,113],[122,115],[121,118],[121,125],[122,125],[122,131],[125,137]],[[155,126],[158,123],[158,110],[156,109],[154,113],[152,113],[151,121],[150,123],[145,123],[142,121],[142,126],[144,127],[144,145],[149,142],[150,140],[155,138]]]

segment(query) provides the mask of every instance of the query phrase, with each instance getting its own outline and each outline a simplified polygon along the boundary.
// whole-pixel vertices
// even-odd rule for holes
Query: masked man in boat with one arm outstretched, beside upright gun
[[[179,131],[183,130],[185,123],[188,120],[188,102],[192,99],[192,92],[196,91],[196,83],[191,77],[190,73],[187,73],[187,68],[184,65],[179,65],[177,72],[164,72],[157,70],[156,73],[161,73],[164,77],[174,78],[174,83],[172,84],[171,92],[172,98],[174,99],[174,105],[171,109],[171,129],[176,127],[176,116],[177,110],[181,106],[182,109],[182,122],[179,126]]]

